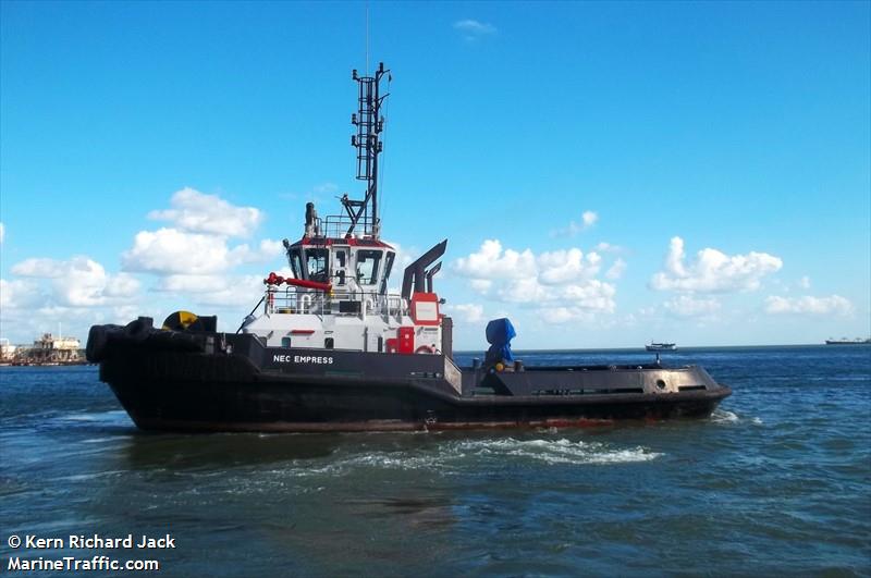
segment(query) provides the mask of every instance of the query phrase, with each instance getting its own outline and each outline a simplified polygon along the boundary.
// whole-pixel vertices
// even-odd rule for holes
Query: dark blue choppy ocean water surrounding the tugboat
[[[704,366],[733,396],[710,419],[588,429],[150,434],[96,368],[0,368],[0,563],[110,554],[157,559],[163,576],[871,576],[871,347],[665,360]],[[95,533],[170,533],[175,548],[8,544]]]

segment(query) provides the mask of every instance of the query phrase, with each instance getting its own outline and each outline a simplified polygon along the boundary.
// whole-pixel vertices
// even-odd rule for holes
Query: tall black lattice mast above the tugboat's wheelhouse
[[[366,182],[366,197],[363,200],[352,200],[347,195],[342,197],[342,205],[351,218],[346,235],[353,234],[357,225],[360,225],[365,235],[375,238],[381,235],[381,219],[378,216],[378,156],[384,148],[380,137],[384,130],[381,104],[390,96],[381,96],[381,78],[384,74],[390,81],[390,71],[384,70],[383,62],[378,64],[373,76],[359,76],[356,69],[352,73],[359,86],[359,96],[357,112],[351,115],[351,124],[357,127],[357,133],[351,137],[351,146],[357,149],[356,179]]]

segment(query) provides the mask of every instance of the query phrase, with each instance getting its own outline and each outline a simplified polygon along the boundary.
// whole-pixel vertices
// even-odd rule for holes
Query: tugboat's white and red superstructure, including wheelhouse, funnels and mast
[[[306,205],[305,229],[294,243],[284,239],[293,276],[271,273],[260,315],[248,316],[244,333],[275,347],[346,349],[357,352],[434,354],[450,352],[450,319],[439,310],[432,275],[446,242],[418,259],[401,293],[390,292],[396,250],[381,241],[378,213],[378,165],[383,151],[381,106],[389,96],[381,82],[390,78],[383,63],[372,76],[359,76],[358,110],[351,122],[355,134],[356,179],[366,185],[361,200],[341,198],[344,214],[318,217]],[[442,328],[447,327],[447,332]],[[446,337],[446,339],[445,339]]]

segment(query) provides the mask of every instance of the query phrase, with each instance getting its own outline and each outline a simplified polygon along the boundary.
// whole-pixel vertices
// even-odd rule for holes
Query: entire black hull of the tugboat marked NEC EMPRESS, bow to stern
[[[279,349],[246,335],[219,339],[232,342],[232,353],[119,341],[102,356],[100,379],[137,427],[159,431],[579,427],[704,417],[731,393],[700,368],[461,373],[440,355]],[[647,373],[679,383],[707,379],[708,385],[673,393],[651,393],[649,385],[626,388]],[[557,391],[542,390],[543,383]],[[596,389],[572,390],[580,386]]]

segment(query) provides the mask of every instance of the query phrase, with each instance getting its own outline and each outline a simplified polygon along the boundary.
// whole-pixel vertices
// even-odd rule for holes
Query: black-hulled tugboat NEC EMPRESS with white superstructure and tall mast
[[[94,325],[86,355],[144,430],[394,431],[571,427],[591,420],[703,417],[732,392],[695,366],[527,367],[507,319],[487,327],[483,361],[459,368],[453,323],[433,288],[447,241],[388,291],[396,250],[381,239],[378,161],[384,119],[380,64],[358,84],[352,115],[361,199],[321,219],[306,205],[293,275],[270,273],[235,333],[214,317],[170,315]]]

